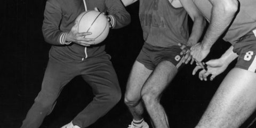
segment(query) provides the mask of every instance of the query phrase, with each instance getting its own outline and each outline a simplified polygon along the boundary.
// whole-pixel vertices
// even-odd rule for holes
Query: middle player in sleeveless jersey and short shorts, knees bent
[[[136,0],[122,0],[130,5]],[[186,56],[180,55],[178,45],[196,44],[202,35],[205,20],[197,12],[192,1],[187,0],[140,0],[139,17],[145,43],[131,70],[125,92],[125,104],[129,108],[133,121],[130,128],[148,128],[142,114],[145,106],[153,127],[169,127],[164,108],[159,103],[163,91],[170,84],[182,66],[188,62]],[[183,2],[190,2],[184,8],[191,9],[188,14],[194,21],[193,30],[188,37],[187,13]],[[185,61],[188,60],[188,61]]]

